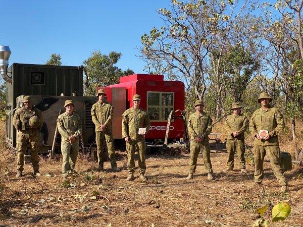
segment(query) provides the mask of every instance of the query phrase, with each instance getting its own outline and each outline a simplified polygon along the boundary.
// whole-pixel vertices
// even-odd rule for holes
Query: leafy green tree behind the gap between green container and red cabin
[[[121,58],[122,54],[110,52],[109,55],[102,54],[100,50],[93,50],[91,56],[83,61],[86,78],[84,79],[86,87],[85,95],[94,96],[96,87],[106,87],[108,85],[119,83],[119,78],[134,74],[134,71],[127,69],[122,71],[114,66]]]

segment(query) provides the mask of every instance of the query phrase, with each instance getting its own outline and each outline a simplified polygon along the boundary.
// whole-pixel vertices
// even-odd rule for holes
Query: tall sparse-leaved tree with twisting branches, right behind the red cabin
[[[158,74],[173,72],[188,90],[192,86],[196,97],[202,99],[207,89],[206,77],[212,70],[216,74],[221,67],[220,61],[213,65],[211,53],[222,53],[230,38],[230,27],[243,9],[255,1],[241,1],[242,6],[238,2],[172,0],[171,10],[158,11],[166,25],[161,29],[154,27],[141,37],[140,58],[147,63],[145,69]]]

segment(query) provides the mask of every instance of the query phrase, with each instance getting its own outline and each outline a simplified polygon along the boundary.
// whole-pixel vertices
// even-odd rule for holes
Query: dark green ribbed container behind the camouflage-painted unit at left
[[[13,126],[16,99],[21,95],[83,96],[82,66],[48,66],[14,63],[7,70],[6,83],[6,142],[16,147],[16,130]],[[55,124],[55,123],[54,123]]]

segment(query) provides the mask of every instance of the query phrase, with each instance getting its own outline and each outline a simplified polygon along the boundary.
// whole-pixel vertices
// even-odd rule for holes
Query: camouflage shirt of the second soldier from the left
[[[68,138],[73,135],[76,136],[76,141],[74,143],[79,143],[78,137],[81,135],[82,131],[82,122],[79,115],[76,115],[76,113],[68,115],[64,112],[58,117],[57,126],[59,133],[61,134],[61,143],[70,143]]]

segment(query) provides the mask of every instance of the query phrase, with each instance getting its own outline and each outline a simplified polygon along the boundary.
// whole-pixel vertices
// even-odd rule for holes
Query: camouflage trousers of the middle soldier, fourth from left
[[[138,165],[140,167],[140,174],[145,174],[146,164],[145,164],[145,150],[146,144],[145,139],[143,140],[132,140],[130,139],[129,143],[126,143],[126,152],[127,152],[127,169],[128,173],[135,173],[135,150],[137,148],[137,152],[139,154]]]

